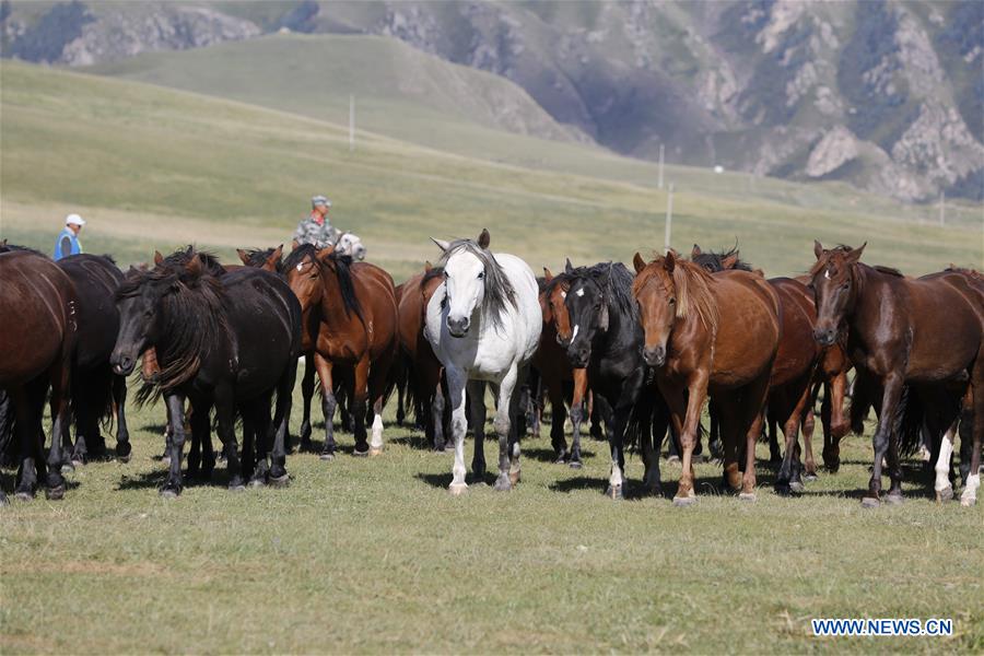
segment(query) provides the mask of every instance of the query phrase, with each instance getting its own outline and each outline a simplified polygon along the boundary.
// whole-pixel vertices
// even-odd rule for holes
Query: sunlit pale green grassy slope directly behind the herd
[[[496,248],[535,268],[558,267],[565,256],[628,261],[663,244],[666,195],[652,186],[495,164],[373,133],[349,152],[344,126],[283,112],[16,62],[0,65],[0,233],[45,250],[60,218],[80,211],[91,220],[89,250],[124,262],[191,241],[229,259],[238,246],[288,241],[307,199],[323,190],[336,201],[336,223],[361,234],[371,259],[397,278],[435,257],[430,235],[482,226]],[[553,143],[531,139],[527,149]],[[636,161],[582,154],[585,169],[655,179]],[[762,180],[759,190],[745,176],[675,171],[687,183],[673,197],[681,249],[738,237],[743,256],[773,274],[806,269],[815,237],[868,241],[870,261],[911,273],[982,260],[973,212],[940,229],[839,185]]]

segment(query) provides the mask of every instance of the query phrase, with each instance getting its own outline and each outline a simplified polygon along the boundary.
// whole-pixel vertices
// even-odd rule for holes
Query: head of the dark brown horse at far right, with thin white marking
[[[813,242],[817,262],[810,269],[810,286],[817,304],[817,323],[813,339],[823,347],[833,345],[837,340],[846,315],[854,307],[857,297],[856,265],[867,243],[859,248],[839,246],[827,250],[820,242]]]

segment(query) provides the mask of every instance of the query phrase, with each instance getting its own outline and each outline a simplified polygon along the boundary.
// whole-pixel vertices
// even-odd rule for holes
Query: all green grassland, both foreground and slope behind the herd
[[[666,195],[651,164],[460,117],[447,120],[462,140],[497,136],[516,157],[368,131],[350,152],[343,117],[246,101],[0,63],[0,238],[48,250],[80,211],[86,249],[121,263],[189,242],[231,260],[236,247],[289,241],[324,191],[397,279],[436,256],[427,236],[483,226],[535,269],[663,245]],[[682,167],[668,178],[676,247],[737,237],[770,274],[805,270],[813,238],[868,241],[868,261],[907,273],[982,265],[980,207],[939,229],[932,208],[843,185]],[[937,506],[910,469],[903,506],[863,511],[868,437],[851,438],[841,472],[800,499],[772,494],[763,470],[754,505],[718,493],[714,464],[699,469],[694,508],[636,489],[613,503],[604,445],[589,443],[575,472],[547,461],[547,440],[524,443],[513,493],[455,499],[449,456],[396,427],[379,458],[291,456],[286,490],[231,494],[220,470],[167,503],[151,459],[162,418],[132,410],[131,462],[81,468],[61,503],[0,512],[0,651],[984,649],[982,506]],[[635,456],[629,475],[641,473]],[[664,468],[668,492],[677,473]],[[808,634],[812,617],[897,616],[953,618],[958,635]]]

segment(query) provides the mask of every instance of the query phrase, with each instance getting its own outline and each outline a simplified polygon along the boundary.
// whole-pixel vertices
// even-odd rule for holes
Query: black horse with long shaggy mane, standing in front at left
[[[120,329],[112,356],[114,371],[132,372],[149,347],[156,350],[161,366],[156,385],[167,403],[172,430],[171,472],[161,493],[175,496],[181,491],[186,397],[195,409],[192,434],[202,443],[215,407],[231,490],[242,489],[246,477],[251,484],[284,484],[284,436],[301,348],[301,306],[274,273],[243,268],[214,276],[199,254],[184,253],[190,255],[184,267],[161,266],[162,258],[153,270],[131,269],[117,291]],[[243,418],[242,466],[236,411]]]

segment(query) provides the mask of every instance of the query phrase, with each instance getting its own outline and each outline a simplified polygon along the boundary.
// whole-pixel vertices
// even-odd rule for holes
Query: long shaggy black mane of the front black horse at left
[[[181,257],[188,255],[187,251],[178,253]],[[194,255],[196,253],[192,250]],[[176,257],[172,261],[178,259]],[[131,269],[117,289],[116,297],[140,294],[150,294],[159,303],[164,320],[161,331],[168,338],[166,347],[155,344],[157,362],[168,363],[162,366],[156,377],[160,390],[173,389],[194,378],[203,354],[232,340],[232,329],[223,307],[225,294],[222,283],[208,269],[191,271],[187,267],[174,266],[144,271]],[[141,389],[138,401],[145,401],[150,396],[147,388]]]

